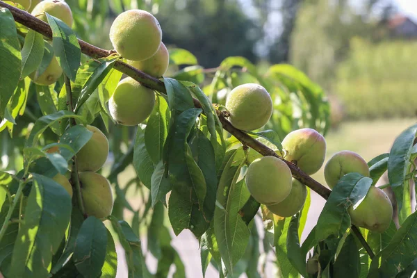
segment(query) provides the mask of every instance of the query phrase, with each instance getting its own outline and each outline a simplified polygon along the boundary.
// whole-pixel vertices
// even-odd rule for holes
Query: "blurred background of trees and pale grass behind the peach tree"
[[[168,48],[187,49],[206,69],[218,67],[228,56],[247,58],[259,72],[277,63],[294,65],[322,86],[330,102],[327,159],[349,149],[369,161],[389,152],[395,137],[416,122],[415,0],[67,2],[75,14],[76,7],[89,11],[90,17],[76,17],[77,35],[106,49],[111,49],[108,30],[113,19],[123,10],[142,8],[157,17]],[[120,176],[129,180],[132,175],[133,168]],[[325,183],[322,172],[313,177]],[[135,209],[140,207],[139,199],[129,201]],[[324,202],[312,194],[311,204],[302,240]],[[142,240],[146,245],[146,238]],[[187,277],[202,277],[193,235],[183,231],[172,245]],[[152,264],[152,256],[147,260]],[[206,277],[217,276],[209,267]],[[266,277],[275,276],[269,272]]]

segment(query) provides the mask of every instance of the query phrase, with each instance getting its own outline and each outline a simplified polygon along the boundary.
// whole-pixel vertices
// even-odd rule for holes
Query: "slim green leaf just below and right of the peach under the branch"
[[[135,148],[133,151],[133,166],[140,181],[149,189],[152,184],[152,173],[155,170],[151,156],[145,146],[145,130],[138,126]]]

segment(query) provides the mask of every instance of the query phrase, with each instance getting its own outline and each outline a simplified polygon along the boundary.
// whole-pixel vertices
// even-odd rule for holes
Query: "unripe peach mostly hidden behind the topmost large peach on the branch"
[[[127,60],[127,63],[150,76],[161,77],[167,71],[170,63],[170,54],[165,44],[161,42],[158,51],[151,58],[141,61]]]

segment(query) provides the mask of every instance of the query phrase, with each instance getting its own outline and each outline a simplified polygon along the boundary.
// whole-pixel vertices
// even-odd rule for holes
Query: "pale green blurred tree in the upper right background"
[[[377,34],[381,33],[376,32],[381,28],[379,17],[373,13],[380,2],[369,0],[358,8],[347,0],[304,1],[291,36],[291,62],[331,90],[336,67],[350,51],[350,39],[380,39]]]

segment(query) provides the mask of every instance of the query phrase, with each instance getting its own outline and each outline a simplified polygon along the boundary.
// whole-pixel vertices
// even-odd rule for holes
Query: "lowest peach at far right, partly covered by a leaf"
[[[378,233],[388,229],[393,218],[393,206],[389,197],[375,186],[369,188],[368,194],[356,209],[350,206],[348,211],[353,224]]]

